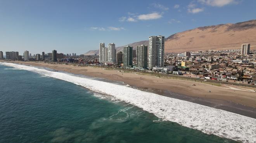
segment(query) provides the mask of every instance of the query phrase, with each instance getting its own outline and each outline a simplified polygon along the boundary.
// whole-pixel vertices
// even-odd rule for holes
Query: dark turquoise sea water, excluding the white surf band
[[[73,83],[0,65],[0,142],[231,143]]]

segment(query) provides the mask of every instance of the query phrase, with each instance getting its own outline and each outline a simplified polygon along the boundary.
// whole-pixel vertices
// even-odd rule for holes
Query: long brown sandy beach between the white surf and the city
[[[57,71],[82,74],[85,76],[102,77],[112,81],[122,81],[132,87],[148,89],[163,96],[183,99],[256,118],[256,92],[253,92],[254,89],[252,87],[237,87],[232,85],[214,86],[194,81],[166,79],[132,72],[106,70],[100,67],[80,67],[44,62],[11,62],[37,67],[48,67]],[[196,84],[196,86],[192,86],[192,84]],[[169,94],[169,92],[175,93],[175,95]]]

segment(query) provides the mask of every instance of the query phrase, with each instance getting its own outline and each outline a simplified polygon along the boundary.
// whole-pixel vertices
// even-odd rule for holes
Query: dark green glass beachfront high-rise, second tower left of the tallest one
[[[125,46],[123,52],[124,52],[124,57],[123,57],[124,67],[132,67],[133,66],[132,64],[133,47],[129,45]]]

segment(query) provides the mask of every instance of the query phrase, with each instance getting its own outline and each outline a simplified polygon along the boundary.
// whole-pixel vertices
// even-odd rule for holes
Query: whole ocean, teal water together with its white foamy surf
[[[256,119],[118,83],[7,63],[0,79],[1,143],[255,141]]]

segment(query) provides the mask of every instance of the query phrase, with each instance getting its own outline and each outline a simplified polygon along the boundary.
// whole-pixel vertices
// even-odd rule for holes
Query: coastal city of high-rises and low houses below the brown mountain
[[[116,51],[114,43],[107,47],[99,44],[99,55],[85,56],[76,53],[63,54],[52,50],[50,53],[34,54],[24,51],[0,51],[0,59],[6,61],[43,61],[53,64],[74,64],[76,66],[115,67],[137,72],[157,72],[197,79],[235,82],[236,84],[256,84],[256,50],[250,44],[242,44],[240,49],[187,51],[165,53],[164,36],[150,36],[149,45],[124,46]]]

